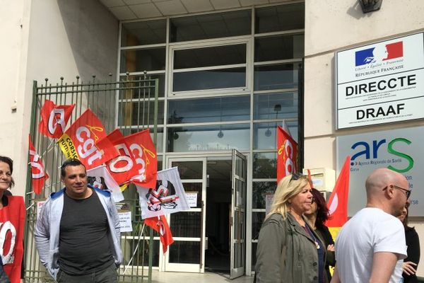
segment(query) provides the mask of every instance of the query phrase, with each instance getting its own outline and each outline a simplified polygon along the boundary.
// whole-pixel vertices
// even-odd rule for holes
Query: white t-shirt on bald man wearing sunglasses
[[[369,282],[372,258],[377,252],[399,254],[390,283],[401,282],[406,258],[405,230],[401,221],[382,209],[361,209],[343,225],[336,238],[336,265],[341,282]]]

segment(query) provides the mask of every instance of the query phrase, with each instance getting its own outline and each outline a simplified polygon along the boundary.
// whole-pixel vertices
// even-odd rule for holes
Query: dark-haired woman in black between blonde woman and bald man
[[[325,271],[329,282],[331,280],[330,265],[336,265],[336,257],[334,256],[334,241],[333,237],[325,221],[329,219],[329,209],[326,207],[324,197],[321,195],[319,190],[312,188],[312,196],[314,202],[312,202],[311,208],[305,212],[305,216],[309,221],[310,226],[324,241],[324,247],[326,247],[326,262]]]

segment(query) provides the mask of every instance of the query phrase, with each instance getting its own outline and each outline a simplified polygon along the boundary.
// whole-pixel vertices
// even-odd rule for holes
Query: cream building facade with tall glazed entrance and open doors
[[[343,138],[424,126],[423,120],[404,120],[338,129],[336,115],[336,54],[422,33],[423,10],[420,0],[384,0],[372,13],[363,13],[355,0],[4,4],[0,144],[1,154],[16,163],[14,190],[25,194],[34,80],[102,79],[110,72],[117,80],[138,79],[146,72],[160,84],[158,168],[178,166],[195,199],[189,212],[170,216],[176,243],[165,255],[156,249],[153,266],[235,274],[242,267],[241,274],[252,275],[266,200],[276,188],[277,125],[288,125],[300,144],[301,168],[314,169],[328,191],[344,154],[355,154],[341,149]],[[129,133],[143,119],[139,100],[116,101],[116,126]],[[245,194],[237,197],[231,190],[232,149],[245,158]],[[424,157],[416,154],[416,160]],[[237,212],[244,221],[236,227],[234,200],[245,203]],[[411,224],[420,234],[424,200],[413,200]],[[349,205],[365,205],[363,195],[354,195]]]

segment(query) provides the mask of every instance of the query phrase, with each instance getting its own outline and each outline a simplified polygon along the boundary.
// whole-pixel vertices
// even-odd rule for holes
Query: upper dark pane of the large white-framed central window
[[[174,69],[246,63],[246,45],[226,45],[175,50]]]

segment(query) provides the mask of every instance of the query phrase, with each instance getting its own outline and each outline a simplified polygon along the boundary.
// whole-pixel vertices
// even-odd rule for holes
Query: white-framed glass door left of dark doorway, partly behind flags
[[[204,272],[206,158],[170,157],[167,168],[178,167],[190,209],[168,216],[174,243],[165,255],[165,271]]]

